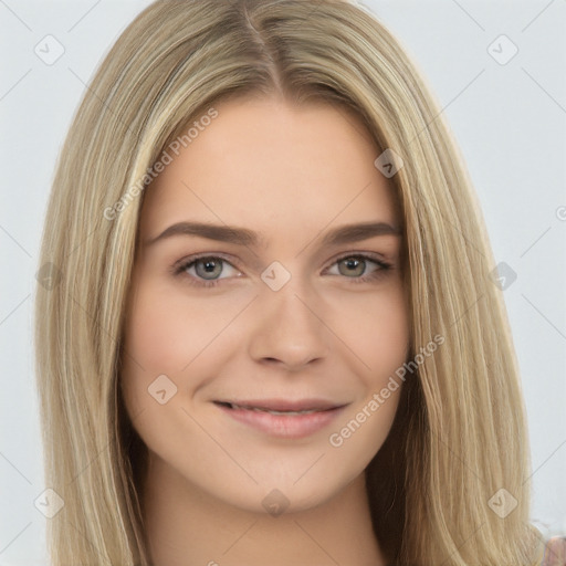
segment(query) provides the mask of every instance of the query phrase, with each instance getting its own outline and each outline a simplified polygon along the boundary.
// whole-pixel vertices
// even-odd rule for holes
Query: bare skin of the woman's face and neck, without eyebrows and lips
[[[279,98],[216,108],[146,189],[128,302],[120,385],[150,455],[143,501],[153,563],[384,566],[364,470],[400,388],[378,409],[368,402],[408,353],[392,189],[363,124],[344,109]],[[264,243],[178,233],[148,243],[189,220],[253,230]],[[399,233],[323,243],[365,222]],[[195,254],[213,263],[190,264]],[[265,272],[275,261],[284,271]],[[285,274],[280,289],[269,284]],[[163,403],[148,395],[158,376],[167,376]],[[322,429],[286,438],[214,402],[268,398],[344,408]],[[342,434],[359,413],[363,423]]]

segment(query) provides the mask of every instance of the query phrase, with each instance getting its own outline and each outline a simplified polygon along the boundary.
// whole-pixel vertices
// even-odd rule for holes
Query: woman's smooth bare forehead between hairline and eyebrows
[[[378,149],[354,113],[275,98],[214,108],[218,116],[146,189],[147,235],[187,219],[265,233],[274,226],[321,229],[333,219],[399,223],[394,189],[374,166]]]

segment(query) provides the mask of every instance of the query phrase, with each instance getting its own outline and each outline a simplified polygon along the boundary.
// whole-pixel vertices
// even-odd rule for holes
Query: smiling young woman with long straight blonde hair
[[[361,8],[148,7],[75,116],[42,263],[55,566],[541,564],[481,212]]]

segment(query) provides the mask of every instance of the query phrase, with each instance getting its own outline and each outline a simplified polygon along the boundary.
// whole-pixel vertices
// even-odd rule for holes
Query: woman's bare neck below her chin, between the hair
[[[365,476],[314,509],[277,516],[230,505],[149,455],[144,518],[154,566],[385,566]]]

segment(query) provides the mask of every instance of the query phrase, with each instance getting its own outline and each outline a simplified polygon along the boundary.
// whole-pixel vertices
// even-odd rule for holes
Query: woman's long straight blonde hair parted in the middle
[[[354,109],[379,153],[403,160],[390,182],[411,359],[432,336],[444,342],[411,369],[366,469],[385,555],[405,566],[536,564],[525,410],[495,264],[459,150],[410,57],[374,14],[339,0],[158,0],[96,71],[46,211],[40,264],[51,276],[36,290],[35,344],[45,481],[64,501],[48,523],[53,565],[150,564],[144,446],[119,388],[145,186],[214,103],[272,94]],[[502,496],[516,500],[505,517],[493,511]]]

